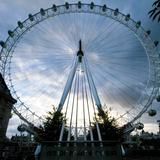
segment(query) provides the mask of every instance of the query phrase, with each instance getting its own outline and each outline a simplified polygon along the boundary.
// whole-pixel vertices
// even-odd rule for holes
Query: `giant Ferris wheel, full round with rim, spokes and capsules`
[[[66,2],[41,8],[17,24],[8,31],[7,40],[0,42],[0,71],[18,100],[13,111],[27,124],[41,124],[52,105],[58,107],[79,40],[101,105],[111,108],[121,126],[136,122],[157,98],[158,42],[129,14],[93,2]],[[84,67],[78,71],[81,75]]]

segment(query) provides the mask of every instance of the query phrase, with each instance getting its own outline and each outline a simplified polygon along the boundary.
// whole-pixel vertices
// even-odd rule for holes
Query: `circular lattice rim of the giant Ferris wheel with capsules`
[[[151,93],[146,105],[142,108],[142,110],[139,112],[139,114],[129,122],[129,123],[133,123],[139,117],[141,117],[141,115],[149,108],[150,104],[154,100],[154,98],[158,92],[158,89],[159,89],[159,86],[157,83],[158,76],[156,74],[156,72],[158,72],[159,70],[157,71],[154,64],[153,64],[153,63],[157,63],[159,65],[159,58],[157,57],[158,54],[156,54],[157,49],[156,49],[156,45],[154,44],[154,42],[150,38],[149,34],[144,30],[144,28],[141,26],[141,24],[139,22],[135,22],[133,19],[130,18],[130,16],[122,14],[117,9],[113,10],[111,8],[108,8],[108,7],[106,7],[106,5],[101,6],[101,5],[95,5],[94,3],[86,4],[86,3],[79,3],[79,2],[72,3],[72,4],[65,3],[64,5],[58,5],[58,6],[53,5],[51,8],[41,9],[39,12],[37,12],[34,15],[30,14],[30,17],[27,18],[26,20],[24,20],[23,22],[19,21],[18,27],[16,27],[12,32],[10,32],[10,35],[6,39],[6,41],[5,41],[6,47],[2,48],[2,50],[0,52],[1,55],[7,53],[5,55],[6,57],[4,58],[4,62],[2,62],[2,60],[1,60],[2,64],[0,66],[1,67],[0,70],[1,70],[3,77],[5,78],[5,76],[6,76],[5,72],[6,72],[6,64],[8,62],[8,58],[11,60],[13,50],[14,50],[14,48],[16,48],[16,44],[20,41],[20,39],[23,37],[23,35],[25,33],[27,33],[27,31],[30,28],[36,26],[38,23],[40,23],[50,17],[54,18],[55,16],[59,16],[62,14],[68,14],[68,13],[90,13],[90,14],[98,14],[99,16],[109,17],[117,22],[120,22],[125,27],[127,27],[131,31],[133,31],[135,33],[135,35],[137,36],[138,40],[141,42],[141,45],[145,49],[146,55],[148,57],[148,61],[149,61],[149,65],[150,65],[149,69],[151,67],[153,67],[153,70],[155,73],[154,76],[155,76],[156,83],[155,83],[154,87],[152,88],[152,93]],[[127,19],[127,16],[128,16],[128,19]],[[31,18],[33,18],[33,21],[31,20]],[[140,33],[141,33],[142,37],[140,37],[140,35],[139,35]],[[16,34],[17,34],[17,37],[15,36]],[[12,37],[12,35],[13,35],[13,37]],[[11,46],[9,46],[10,43],[11,43]],[[148,46],[147,43],[149,43],[150,46]],[[149,55],[149,53],[150,53],[150,55]],[[151,62],[151,59],[154,60],[154,62]],[[12,84],[11,74],[9,73],[8,76],[9,76],[9,81],[10,81],[10,87],[11,87],[13,93],[15,94],[15,97],[17,98],[17,100],[20,101],[20,104],[22,106],[24,106],[25,109],[27,109],[32,115],[41,119],[41,117],[39,117],[34,112],[32,112],[24,104],[24,102],[22,102],[20,100],[20,98],[17,95],[17,92],[15,91],[14,86]],[[28,123],[30,125],[34,125],[32,122],[28,121],[21,113],[19,113],[17,111],[16,107],[13,107],[13,111],[26,123]]]

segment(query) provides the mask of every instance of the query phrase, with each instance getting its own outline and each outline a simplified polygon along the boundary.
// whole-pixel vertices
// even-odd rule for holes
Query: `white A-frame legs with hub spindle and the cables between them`
[[[82,70],[81,70],[82,69]],[[72,89],[72,85],[73,85],[73,80],[76,76],[76,72],[77,72],[77,77],[78,77],[78,80],[77,80],[77,83],[75,82],[75,88],[74,88],[74,95],[73,95],[73,102],[72,102],[72,111],[71,111],[71,117],[70,117],[70,125],[69,125],[69,133],[68,133],[68,141],[71,140],[71,131],[72,131],[72,119],[73,119],[73,109],[74,107],[76,107],[76,125],[75,125],[75,140],[77,141],[77,138],[78,138],[78,107],[79,107],[79,94],[80,94],[80,91],[79,89],[81,90],[80,88],[80,75],[81,75],[81,86],[82,86],[82,93],[85,92],[85,94],[87,94],[86,92],[86,89],[83,88],[83,79],[85,78],[85,74],[86,74],[86,79],[87,79],[87,82],[88,82],[88,86],[89,86],[89,90],[90,90],[90,95],[91,95],[91,100],[92,100],[92,106],[94,108],[94,115],[95,115],[95,118],[96,118],[96,113],[95,113],[95,107],[94,107],[94,102],[96,104],[96,106],[98,108],[101,109],[102,105],[101,105],[101,102],[100,102],[100,99],[99,99],[99,96],[98,96],[98,93],[97,93],[97,89],[95,87],[95,84],[94,84],[94,81],[93,81],[93,78],[92,78],[92,75],[91,75],[91,72],[90,72],[90,69],[89,69],[89,66],[87,66],[87,63],[86,63],[86,59],[85,59],[85,56],[84,56],[84,52],[82,51],[82,42],[81,40],[79,41],[79,50],[77,52],[77,58],[76,58],[76,61],[75,61],[75,64],[73,66],[73,69],[71,70],[70,72],[70,75],[68,77],[68,80],[67,80],[67,83],[65,85],[65,88],[64,88],[64,91],[63,91],[63,94],[62,94],[62,97],[61,97],[61,100],[60,100],[60,103],[59,103],[59,106],[58,106],[58,111],[61,111],[62,108],[64,107],[64,103],[67,99],[67,96],[69,95],[71,89]],[[76,81],[76,80],[75,80]],[[85,84],[86,85],[86,84]],[[77,87],[76,87],[77,86]],[[75,97],[75,89],[77,90],[77,96]],[[92,96],[93,95],[93,96]],[[76,103],[76,106],[74,105],[74,101],[75,101],[75,98],[77,98],[77,103]],[[85,121],[85,109],[84,107],[86,107],[86,105],[84,104],[84,95],[82,96],[82,99],[83,99],[83,119],[84,119],[84,123],[83,123],[83,129],[84,129],[84,140],[86,140],[86,121]],[[88,99],[88,96],[86,96],[86,99]],[[70,100],[70,95],[69,95],[69,98],[68,100]],[[69,101],[68,101],[69,102]],[[88,109],[90,106],[88,106]],[[65,111],[65,114],[67,114],[67,109],[68,107],[66,108],[66,111]],[[90,112],[88,111],[88,114],[89,114],[89,117],[90,117]],[[64,134],[64,123],[62,125],[62,128],[61,128],[61,133],[60,133],[60,138],[59,138],[59,141],[62,141],[63,140],[63,134]],[[91,123],[90,123],[90,120],[89,120],[89,132],[90,132],[90,139],[91,141],[93,141],[93,133],[92,133],[92,130],[91,130]],[[98,135],[98,140],[99,141],[102,141],[102,137],[101,137],[101,133],[100,133],[100,129],[99,129],[99,126],[98,126],[98,122],[96,120],[96,129],[97,129],[97,135]]]

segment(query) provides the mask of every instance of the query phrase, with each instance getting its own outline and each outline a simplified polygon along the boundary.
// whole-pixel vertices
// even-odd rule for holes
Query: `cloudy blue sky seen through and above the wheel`
[[[139,4],[136,1],[129,0],[121,2],[117,2],[116,0],[96,0],[94,2],[99,4],[107,3],[107,6],[113,9],[119,8],[119,10],[125,14],[130,13],[131,17],[136,20],[142,19],[142,24],[144,24],[147,29],[149,27],[153,28],[153,38],[159,39],[158,24],[152,23],[147,16],[152,1],[146,2],[146,0],[142,0]],[[75,0],[69,2],[77,3]],[[85,0],[83,2],[86,3]],[[60,4],[64,3],[64,1],[56,0],[53,2],[49,0],[37,0],[29,3],[27,0],[0,0],[0,14],[2,17],[0,21],[0,29],[2,32],[1,39],[7,37],[7,30],[16,27],[16,22],[18,20],[24,20],[29,13],[34,14],[38,12],[40,8],[48,8],[52,6],[53,3]],[[55,17],[55,21],[41,23],[36,30],[32,29],[28,35],[24,36],[24,39],[15,49],[13,68],[11,68],[12,78],[17,93],[22,97],[22,100],[25,101],[25,103],[32,106],[31,108],[33,111],[38,112],[40,109],[40,114],[43,114],[42,112],[48,110],[48,108],[45,108],[44,111],[41,110],[44,105],[48,106],[52,102],[58,105],[58,97],[62,94],[66,77],[70,70],[68,66],[72,62],[73,54],[77,51],[77,42],[79,38],[86,37],[86,43],[83,44],[85,48],[85,46],[88,46],[87,41],[94,40],[97,34],[101,33],[101,36],[98,39],[98,41],[101,40],[99,46],[97,45],[97,41],[92,44],[90,43],[88,46],[88,51],[90,51],[88,57],[93,62],[93,65],[91,65],[93,70],[97,65],[100,66],[99,68],[97,67],[97,70],[94,70],[93,77],[99,90],[100,97],[105,94],[102,98],[104,99],[103,103],[106,101],[109,106],[118,106],[119,109],[117,110],[119,110],[119,114],[121,114],[120,110],[123,106],[127,108],[127,105],[130,103],[134,104],[134,101],[139,98],[141,93],[144,94],[141,90],[144,90],[145,88],[147,77],[144,73],[147,73],[147,69],[145,70],[145,68],[148,66],[141,63],[146,60],[144,58],[145,56],[138,56],[141,53],[144,54],[144,51],[141,48],[138,48],[138,44],[134,43],[136,42],[135,39],[129,35],[127,30],[122,30],[120,25],[117,27],[117,24],[115,24],[114,27],[112,25],[112,27],[109,28],[108,23],[111,23],[111,21],[108,19],[104,20],[104,18],[99,20],[99,17],[97,16],[90,16],[92,25],[79,27],[80,30],[84,29],[86,32],[85,34],[79,34],[77,36],[75,34],[77,28],[70,22],[78,21],[80,24],[83,20],[86,22],[89,20],[87,16],[85,18],[84,16],[80,16],[78,18],[79,19],[77,20],[70,16],[68,20],[67,15]],[[96,25],[97,23],[98,25]],[[106,30],[109,28],[107,34],[104,34],[106,33],[106,30],[102,28],[105,28]],[[99,30],[99,32],[93,32],[92,29],[95,31]],[[123,39],[124,35],[130,39]],[[119,59],[121,59],[120,64],[118,64],[119,60],[116,60],[117,55],[115,54],[118,52],[118,49],[115,48],[113,50],[113,47],[117,45],[115,43],[117,42],[117,37],[119,38],[119,46],[117,48],[120,48],[121,51],[123,51],[122,53],[119,53]],[[102,41],[103,38],[106,38],[108,41]],[[39,39],[41,40],[41,43],[39,42]],[[126,45],[126,41],[131,42],[131,44]],[[136,47],[139,51],[137,51]],[[48,48],[48,50],[46,48]],[[126,53],[125,50],[127,49],[128,52]],[[56,53],[53,53],[53,51]],[[101,53],[101,55],[97,56],[97,52]],[[103,56],[106,52],[108,52],[108,57],[107,59],[104,59]],[[124,55],[126,58],[123,57]],[[69,58],[67,59],[68,56]],[[49,58],[44,59],[45,57]],[[124,59],[122,60],[122,58]],[[67,65],[62,63],[61,60],[65,61]],[[49,64],[49,66],[47,64]],[[108,76],[100,79],[99,77],[103,76],[104,71],[107,72]],[[34,84],[34,86],[31,84]],[[106,90],[104,90],[103,86],[105,86]],[[121,96],[122,93],[124,94],[123,96]],[[41,101],[37,100],[38,97],[41,97]],[[115,103],[115,100],[119,103]],[[127,103],[127,100],[129,101],[129,104]],[[158,105],[156,104],[156,106]],[[147,118],[145,118],[144,121],[146,119]],[[12,124],[12,122],[16,121],[11,120],[10,126],[12,127],[8,130],[8,133],[13,132],[12,128],[14,128],[15,124]],[[151,125],[149,127],[151,127]]]

